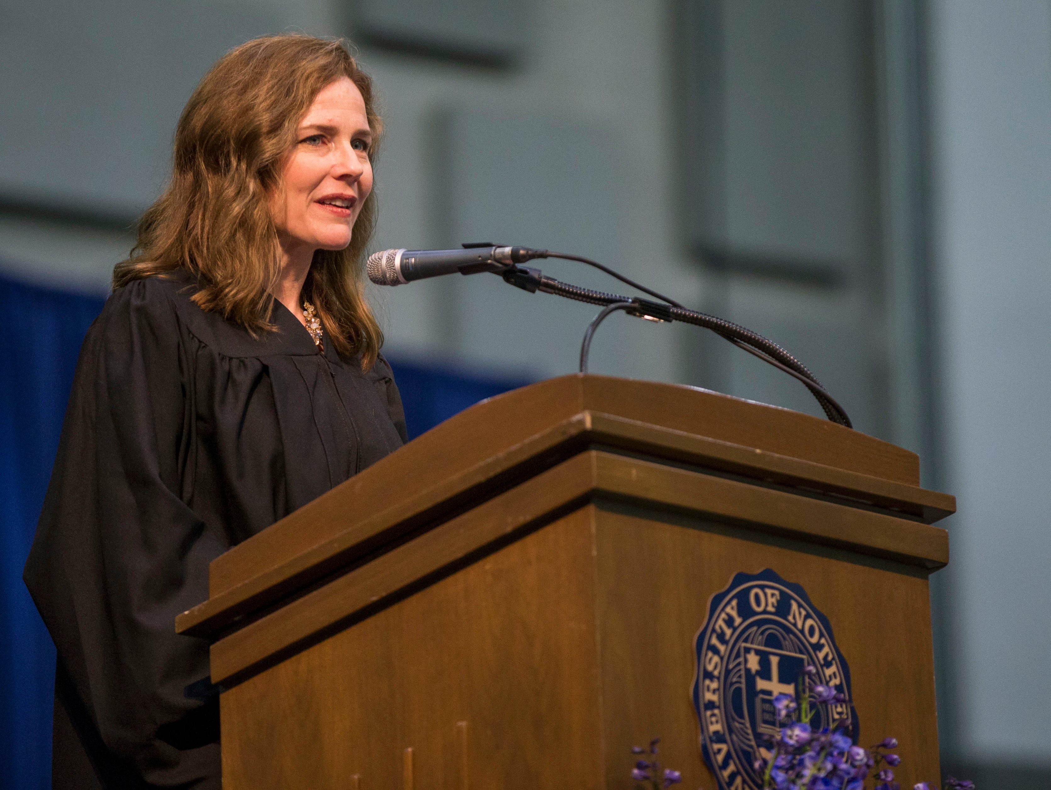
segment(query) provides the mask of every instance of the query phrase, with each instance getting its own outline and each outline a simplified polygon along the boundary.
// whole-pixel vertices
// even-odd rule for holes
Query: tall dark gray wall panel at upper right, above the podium
[[[871,255],[871,6],[687,0],[688,234],[709,263],[843,279]]]

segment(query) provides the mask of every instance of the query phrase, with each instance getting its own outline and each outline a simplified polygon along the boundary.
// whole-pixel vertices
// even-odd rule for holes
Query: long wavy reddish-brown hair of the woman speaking
[[[342,77],[362,91],[374,160],[383,123],[372,81],[343,41],[268,36],[223,57],[179,119],[171,181],[139,221],[130,257],[114,269],[114,288],[185,270],[197,279],[192,298],[202,310],[222,314],[253,336],[273,331],[271,291],[281,248],[268,195],[280,187],[303,116],[322,88]],[[384,340],[363,277],[375,222],[372,193],[350,245],[314,252],[303,286],[336,350],[345,358],[359,357],[364,370],[375,362]]]

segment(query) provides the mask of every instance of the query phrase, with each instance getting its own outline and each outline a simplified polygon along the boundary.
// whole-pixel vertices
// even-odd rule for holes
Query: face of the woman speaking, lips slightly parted
[[[300,122],[270,215],[290,257],[342,250],[372,191],[372,132],[365,100],[343,77],[322,89]]]

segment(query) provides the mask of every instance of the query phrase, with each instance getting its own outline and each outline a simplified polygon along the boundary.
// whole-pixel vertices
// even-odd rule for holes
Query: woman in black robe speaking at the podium
[[[58,647],[55,787],[219,787],[208,563],[406,441],[363,294],[371,83],[338,42],[204,78],[81,350],[25,581]]]

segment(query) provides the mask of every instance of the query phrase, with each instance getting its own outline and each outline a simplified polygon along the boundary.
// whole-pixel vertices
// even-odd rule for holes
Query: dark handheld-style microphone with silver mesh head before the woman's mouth
[[[369,255],[366,271],[377,286],[400,286],[442,274],[503,271],[512,264],[547,257],[547,250],[497,245],[465,245],[461,250],[383,250]]]

